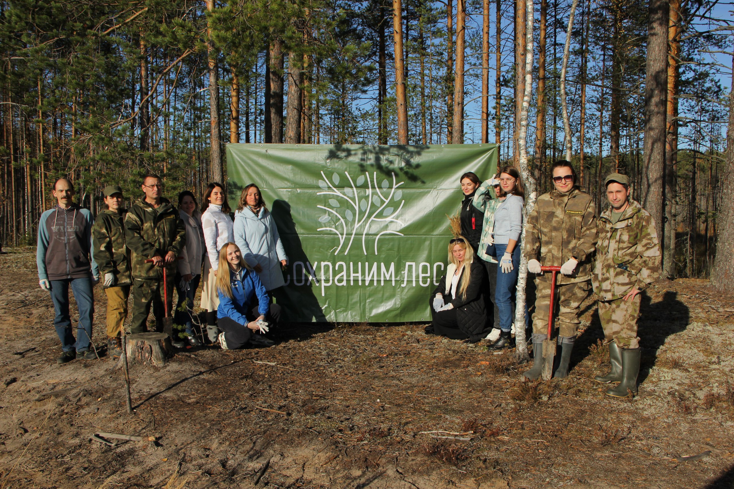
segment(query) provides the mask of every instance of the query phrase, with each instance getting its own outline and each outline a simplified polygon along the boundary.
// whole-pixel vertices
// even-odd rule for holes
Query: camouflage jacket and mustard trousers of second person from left
[[[125,214],[127,210],[110,211],[106,209],[97,214],[92,225],[92,245],[94,259],[101,278],[112,273],[115,283],[105,287],[107,294],[107,336],[116,338],[128,316],[128,296],[132,283],[130,275],[130,254],[125,245]]]

